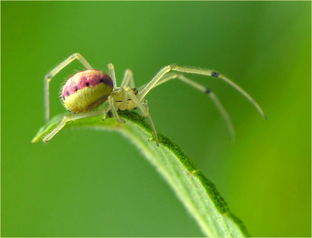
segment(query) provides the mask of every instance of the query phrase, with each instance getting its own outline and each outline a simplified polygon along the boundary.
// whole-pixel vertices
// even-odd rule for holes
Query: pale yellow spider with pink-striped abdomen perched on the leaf
[[[67,110],[71,113],[66,115],[61,120],[60,124],[54,128],[49,134],[43,138],[43,142],[48,142],[55,136],[66,124],[68,121],[73,121],[77,119],[87,118],[98,116],[101,114],[109,113],[110,116],[113,116],[118,122],[125,122],[118,116],[118,110],[125,109],[141,109],[142,116],[145,117],[151,128],[153,130],[155,142],[159,146],[158,136],[154,122],[149,114],[148,101],[145,99],[146,94],[149,93],[154,87],[167,82],[168,80],[178,78],[182,82],[192,86],[203,93],[206,93],[210,96],[214,104],[217,106],[220,111],[223,119],[227,124],[227,129],[230,134],[230,137],[234,136],[234,130],[229,119],[229,116],[222,106],[219,99],[215,94],[208,88],[197,84],[191,79],[186,78],[181,73],[194,73],[205,76],[212,76],[214,78],[220,78],[230,84],[232,87],[237,89],[241,94],[243,94],[251,103],[256,107],[256,109],[262,114],[266,119],[266,115],[263,113],[260,106],[256,101],[251,98],[243,89],[238,85],[233,83],[229,78],[225,77],[221,73],[217,73],[211,70],[195,69],[195,68],[185,68],[179,67],[177,65],[168,65],[163,67],[154,78],[143,87],[137,90],[134,86],[134,78],[131,70],[127,69],[124,73],[124,78],[120,87],[116,85],[115,78],[115,69],[113,64],[108,65],[109,75],[96,70],[91,67],[91,65],[85,60],[85,58],[80,53],[72,54],[58,66],[56,66],[50,73],[48,73],[44,79],[45,82],[45,119],[46,122],[50,118],[50,105],[49,105],[49,83],[51,78],[53,78],[62,68],[71,63],[73,60],[79,60],[80,63],[86,68],[84,71],[80,71],[73,75],[65,83],[61,99]],[[169,73],[169,71],[173,71]],[[130,85],[130,86],[129,86]],[[97,109],[100,105],[105,104],[104,107]],[[97,109],[97,110],[95,110]],[[104,118],[103,118],[104,120]]]

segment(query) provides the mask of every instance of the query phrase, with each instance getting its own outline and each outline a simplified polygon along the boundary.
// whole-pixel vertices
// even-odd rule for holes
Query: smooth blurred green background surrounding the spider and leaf
[[[252,236],[311,237],[311,2],[1,1],[1,236],[202,236],[172,190],[117,133],[64,130],[31,144],[44,124],[43,78],[72,53],[137,86],[165,65],[210,68],[212,102],[171,81],[147,95],[158,132],[212,180]],[[59,90],[82,68],[51,82]]]

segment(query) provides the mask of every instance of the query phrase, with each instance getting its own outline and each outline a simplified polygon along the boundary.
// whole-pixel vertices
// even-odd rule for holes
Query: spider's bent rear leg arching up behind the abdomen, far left
[[[58,66],[56,66],[54,69],[52,69],[44,78],[44,92],[45,92],[45,118],[46,122],[50,119],[50,102],[49,102],[49,83],[51,79],[58,73],[62,68],[64,68],[66,65],[71,63],[73,60],[78,59],[80,63],[86,68],[86,69],[93,69],[91,65],[85,60],[85,58],[80,53],[72,54],[70,57],[68,57],[66,60],[64,60],[62,63],[60,63]]]

